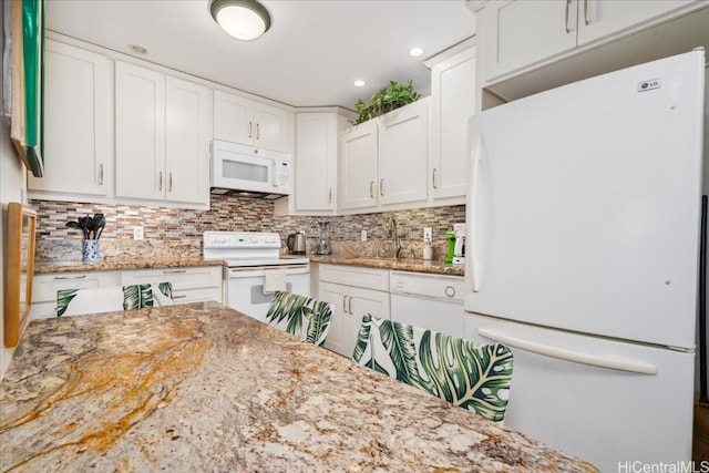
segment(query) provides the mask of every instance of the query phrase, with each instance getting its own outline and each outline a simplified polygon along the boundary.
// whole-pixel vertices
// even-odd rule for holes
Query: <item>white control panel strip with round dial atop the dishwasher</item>
[[[461,276],[432,276],[408,271],[391,271],[390,275],[392,294],[407,294],[462,304],[464,289],[465,282]]]

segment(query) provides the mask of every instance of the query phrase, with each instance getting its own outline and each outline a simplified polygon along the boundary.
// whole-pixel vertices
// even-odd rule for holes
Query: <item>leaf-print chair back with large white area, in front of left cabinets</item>
[[[171,282],[56,291],[56,317],[172,306]]]

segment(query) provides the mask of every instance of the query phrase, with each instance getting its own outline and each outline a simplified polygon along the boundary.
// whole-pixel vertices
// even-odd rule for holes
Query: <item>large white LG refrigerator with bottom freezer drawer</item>
[[[469,122],[466,336],[513,350],[505,425],[602,471],[691,457],[703,81],[697,50]]]

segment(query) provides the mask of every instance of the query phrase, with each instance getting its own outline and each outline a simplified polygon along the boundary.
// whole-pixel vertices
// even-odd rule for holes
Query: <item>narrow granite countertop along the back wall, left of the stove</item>
[[[114,271],[125,269],[186,268],[195,266],[222,266],[220,259],[202,258],[106,258],[95,263],[84,261],[37,261],[34,274]]]

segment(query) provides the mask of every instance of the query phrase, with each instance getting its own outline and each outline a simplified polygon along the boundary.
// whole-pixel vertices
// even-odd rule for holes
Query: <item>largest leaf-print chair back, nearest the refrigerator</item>
[[[367,313],[352,358],[483,418],[504,420],[512,352],[503,343],[476,345]]]

